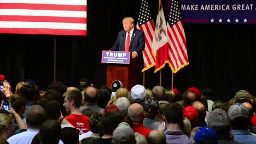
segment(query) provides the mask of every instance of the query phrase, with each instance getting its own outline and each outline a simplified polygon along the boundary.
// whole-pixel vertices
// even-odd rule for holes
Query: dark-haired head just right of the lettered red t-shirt
[[[101,118],[103,117],[102,113],[94,112],[92,113],[89,119],[89,127],[92,133],[98,133],[98,123],[101,122]]]

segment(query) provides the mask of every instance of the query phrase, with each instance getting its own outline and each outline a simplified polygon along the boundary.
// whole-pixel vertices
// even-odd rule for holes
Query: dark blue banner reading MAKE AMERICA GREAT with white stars
[[[181,0],[184,23],[255,24],[255,0]]]

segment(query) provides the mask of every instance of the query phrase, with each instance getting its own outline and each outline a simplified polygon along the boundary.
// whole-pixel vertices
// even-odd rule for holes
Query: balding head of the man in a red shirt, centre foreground
[[[142,105],[135,103],[129,106],[127,115],[131,118],[133,123],[141,123],[144,118]]]

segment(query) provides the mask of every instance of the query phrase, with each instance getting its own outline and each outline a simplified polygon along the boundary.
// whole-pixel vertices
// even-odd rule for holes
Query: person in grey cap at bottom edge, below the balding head
[[[113,143],[136,144],[135,133],[129,124],[122,122],[113,132]]]

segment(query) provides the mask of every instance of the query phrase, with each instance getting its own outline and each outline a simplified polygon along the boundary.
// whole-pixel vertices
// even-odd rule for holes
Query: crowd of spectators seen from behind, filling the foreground
[[[5,80],[2,88],[0,143],[256,143],[256,98],[245,90],[226,102],[209,88],[128,91],[120,81],[99,89],[53,81],[40,91],[27,80],[13,93]]]

